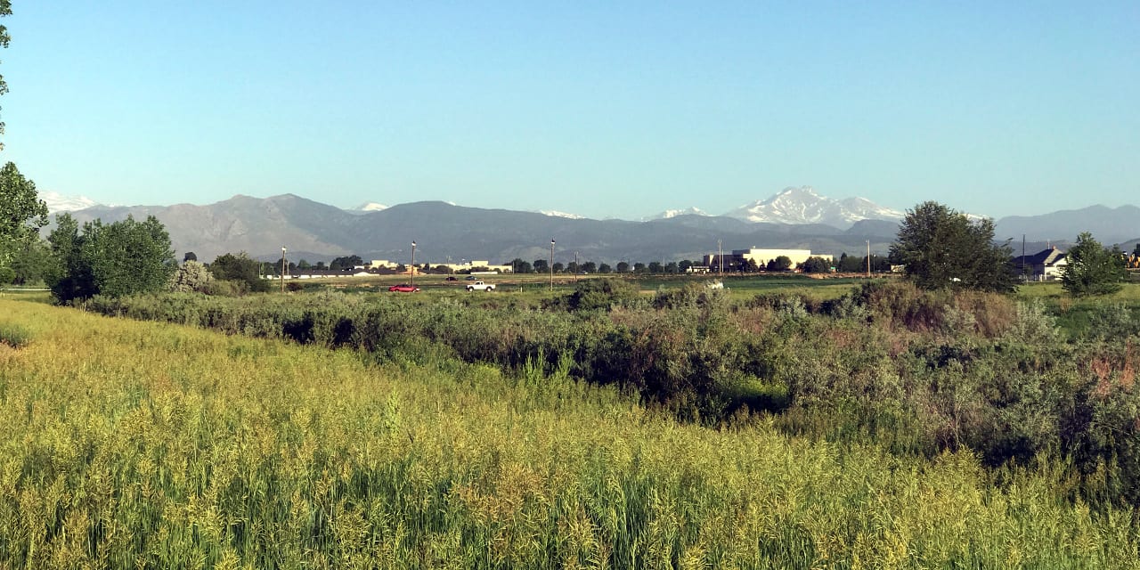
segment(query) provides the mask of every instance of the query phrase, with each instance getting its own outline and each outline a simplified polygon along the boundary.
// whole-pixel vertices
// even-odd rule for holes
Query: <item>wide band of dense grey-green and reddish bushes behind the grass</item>
[[[747,407],[791,432],[896,453],[969,448],[992,466],[1065,458],[1086,498],[1140,505],[1140,326],[1121,307],[1092,317],[1110,334],[1075,340],[1062,340],[1040,303],[906,283],[829,301],[732,303],[698,286],[646,300],[597,283],[544,308],[331,293],[92,307],[378,358],[453,357],[530,375],[561,368],[681,417],[716,423]]]

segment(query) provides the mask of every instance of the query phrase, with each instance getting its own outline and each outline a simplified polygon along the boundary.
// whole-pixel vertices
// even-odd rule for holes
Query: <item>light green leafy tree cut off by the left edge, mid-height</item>
[[[0,35],[5,34],[2,27]],[[9,266],[16,252],[35,242],[47,223],[48,206],[39,198],[35,182],[24,178],[14,163],[5,164],[0,169],[0,266]]]

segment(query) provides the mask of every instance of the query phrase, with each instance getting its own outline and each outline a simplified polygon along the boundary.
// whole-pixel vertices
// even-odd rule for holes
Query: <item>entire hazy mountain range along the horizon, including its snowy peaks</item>
[[[724,215],[695,207],[630,220],[592,220],[561,212],[522,212],[465,207],[446,202],[414,202],[384,206],[367,203],[343,210],[292,194],[255,198],[237,195],[206,205],[106,206],[82,197],[46,193],[52,212],[70,211],[80,222],[99,218],[113,222],[133,215],[155,215],[166,227],[177,256],[194,252],[211,261],[223,253],[246,252],[262,260],[316,263],[343,255],[365,260],[404,261],[416,242],[416,260],[463,263],[489,260],[547,259],[554,239],[554,261],[669,262],[700,260],[723,251],[760,249],[811,250],[839,258],[862,256],[868,246],[885,253],[895,239],[902,210],[864,198],[836,199],[811,187],[787,188]],[[915,203],[922,197],[917,197]],[[953,207],[953,204],[950,204]],[[1097,205],[1034,217],[995,221],[995,236],[1010,239],[1015,254],[1051,245],[1066,246],[1077,234],[1091,231],[1104,244],[1132,251],[1140,238],[1140,207]]]

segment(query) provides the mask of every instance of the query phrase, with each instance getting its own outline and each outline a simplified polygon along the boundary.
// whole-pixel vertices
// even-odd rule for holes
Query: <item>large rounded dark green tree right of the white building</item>
[[[994,243],[991,219],[971,221],[937,202],[906,212],[890,259],[926,290],[964,287],[1010,292],[1017,286],[1009,242]]]

